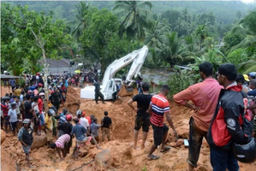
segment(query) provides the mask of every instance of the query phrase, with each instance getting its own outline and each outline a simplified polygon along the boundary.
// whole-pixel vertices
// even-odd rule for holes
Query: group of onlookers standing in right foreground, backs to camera
[[[256,160],[256,73],[237,74],[235,65],[231,63],[221,65],[217,74],[212,71],[210,62],[201,63],[199,74],[203,81],[189,86],[173,97],[176,103],[193,109],[189,121],[188,171],[197,167],[203,138],[210,145],[211,166],[214,171],[225,171],[226,168],[237,171],[237,160]],[[140,128],[142,127],[143,131],[143,149],[149,127],[152,125],[154,143],[146,158],[157,160],[159,156],[153,155],[153,152],[160,145],[160,152],[170,150],[165,144],[169,127],[164,124],[164,115],[173,135],[178,138],[167,100],[170,87],[162,85],[160,93],[154,96],[148,93],[149,85],[146,82],[139,88],[140,94],[128,101],[130,108],[137,113],[134,124],[134,149],[137,147]],[[137,108],[133,102],[137,102]]]

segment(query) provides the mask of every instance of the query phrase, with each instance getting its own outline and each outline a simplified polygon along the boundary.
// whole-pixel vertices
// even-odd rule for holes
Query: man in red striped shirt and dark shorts
[[[152,148],[146,157],[147,160],[157,160],[159,158],[159,156],[152,155],[152,153],[158,148],[158,145],[160,144],[162,144],[160,152],[170,150],[170,147],[165,145],[169,128],[164,124],[164,114],[166,115],[166,119],[177,138],[176,128],[174,127],[170,118],[170,103],[166,98],[169,91],[170,87],[168,85],[162,85],[160,93],[152,97],[149,106],[149,113],[151,114],[150,121],[152,123],[154,134],[154,144],[152,144]]]

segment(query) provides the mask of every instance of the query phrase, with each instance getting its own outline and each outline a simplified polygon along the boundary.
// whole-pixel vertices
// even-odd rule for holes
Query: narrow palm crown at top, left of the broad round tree
[[[76,10],[71,12],[75,15],[75,21],[77,22],[76,26],[72,29],[71,34],[74,38],[80,38],[82,31],[88,26],[86,21],[86,15],[88,14],[88,9],[90,8],[89,3],[80,2],[78,5],[75,5]]]

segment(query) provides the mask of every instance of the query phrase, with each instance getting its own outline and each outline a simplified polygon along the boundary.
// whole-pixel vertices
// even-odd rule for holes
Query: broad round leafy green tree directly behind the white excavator
[[[131,44],[125,37],[119,37],[119,21],[107,9],[92,14],[91,25],[80,37],[85,56],[92,62],[99,62],[102,72],[116,58],[131,50]]]

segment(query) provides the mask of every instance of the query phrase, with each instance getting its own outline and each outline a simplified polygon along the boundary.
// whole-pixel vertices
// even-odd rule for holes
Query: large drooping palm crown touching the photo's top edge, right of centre
[[[118,10],[117,10],[118,9]],[[114,11],[124,19],[121,24],[121,34],[126,32],[128,37],[138,36],[139,39],[145,38],[145,27],[151,18],[150,10],[152,3],[138,1],[116,1]]]

